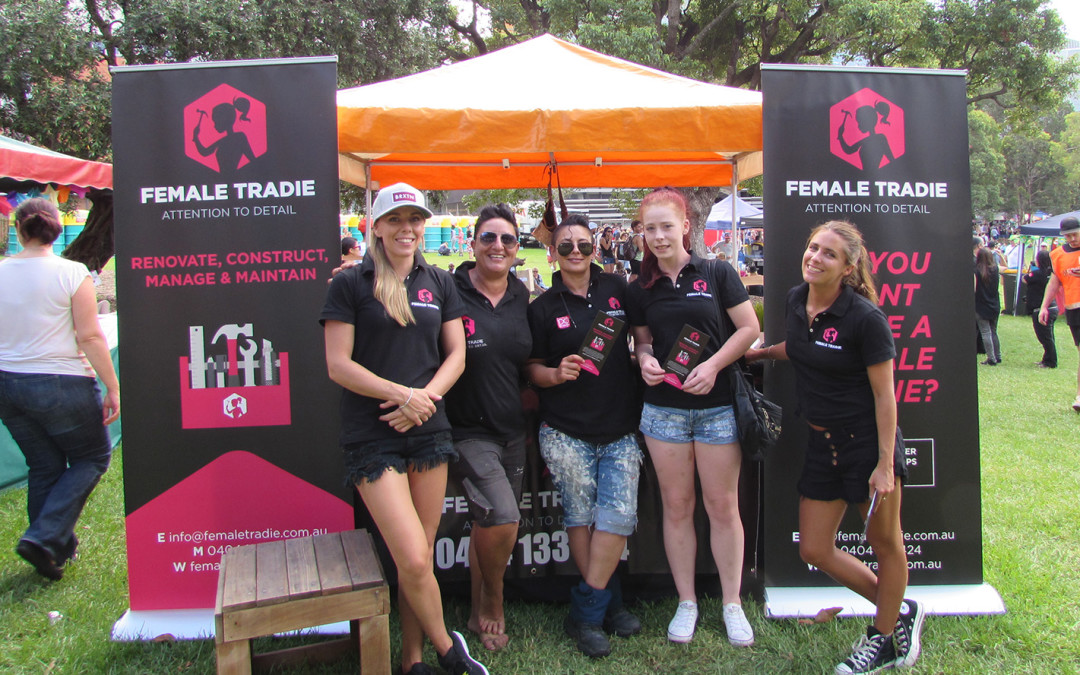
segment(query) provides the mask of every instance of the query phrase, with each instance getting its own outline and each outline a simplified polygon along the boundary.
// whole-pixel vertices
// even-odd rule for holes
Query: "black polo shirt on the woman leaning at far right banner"
[[[885,313],[847,284],[833,306],[807,324],[809,284],[787,292],[787,357],[795,368],[798,413],[827,427],[874,415],[866,368],[895,357]]]

